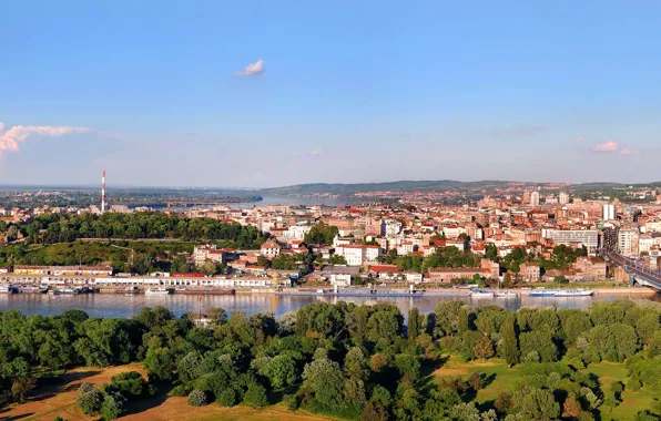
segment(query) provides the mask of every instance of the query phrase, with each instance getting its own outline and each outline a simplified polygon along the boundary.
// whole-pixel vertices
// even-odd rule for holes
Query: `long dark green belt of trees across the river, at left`
[[[176,238],[186,242],[226,242],[228,247],[258,248],[264,234],[254,226],[224,223],[211,218],[186,218],[161,212],[132,214],[84,213],[42,214],[22,224],[0,222],[9,242],[19,237],[28,243],[71,243],[80,238]]]

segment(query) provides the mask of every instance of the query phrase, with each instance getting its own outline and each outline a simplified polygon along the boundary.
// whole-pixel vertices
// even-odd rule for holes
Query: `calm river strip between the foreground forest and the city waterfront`
[[[446,297],[425,297],[425,298],[360,298],[360,297],[293,297],[276,296],[274,294],[240,294],[235,296],[203,296],[200,301],[197,296],[193,295],[171,295],[171,296],[143,296],[143,295],[113,295],[113,294],[90,294],[77,296],[51,296],[45,294],[14,294],[0,295],[0,311],[16,308],[24,315],[59,315],[64,310],[79,309],[85,311],[92,317],[130,317],[140,312],[143,307],[166,306],[174,314],[181,316],[189,311],[199,311],[210,307],[221,307],[227,312],[231,310],[243,310],[248,315],[255,312],[272,312],[276,317],[287,312],[294,312],[301,307],[315,301],[337,302],[339,300],[355,304],[375,304],[391,302],[395,304],[406,316],[408,310],[417,307],[420,312],[431,312],[437,302],[443,300],[464,300],[474,306],[498,305],[505,308],[517,310],[521,307],[535,306],[558,306],[561,308],[586,308],[591,302],[614,300],[619,298],[641,298],[629,297],[626,294],[612,296],[579,297],[579,298],[541,298],[541,297],[520,297],[518,299],[504,298],[446,298]],[[661,301],[661,295],[645,297],[654,301]]]

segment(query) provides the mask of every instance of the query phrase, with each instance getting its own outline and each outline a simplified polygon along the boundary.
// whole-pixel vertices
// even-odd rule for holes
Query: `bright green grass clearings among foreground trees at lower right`
[[[627,384],[627,368],[623,363],[600,362],[591,364],[584,371],[592,372],[599,377],[601,390],[603,391],[609,391],[613,381],[622,381]],[[433,374],[437,379],[457,376],[467,379],[474,372],[492,377],[490,383],[477,393],[477,402],[480,405],[488,405],[490,401],[494,401],[498,397],[498,392],[511,390],[518,381],[522,380],[522,376],[517,368],[509,369],[502,360],[492,359],[486,362],[461,362],[457,356],[450,356],[443,367],[434,371]],[[652,407],[654,398],[660,399],[661,391],[653,391],[649,388],[642,388],[635,392],[624,390],[622,393],[622,403],[612,411],[609,411],[606,407],[601,407],[601,420],[633,420],[637,412]]]

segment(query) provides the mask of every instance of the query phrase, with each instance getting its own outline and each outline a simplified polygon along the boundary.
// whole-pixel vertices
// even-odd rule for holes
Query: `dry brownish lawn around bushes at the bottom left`
[[[105,369],[84,368],[68,371],[62,381],[33,391],[30,400],[22,404],[0,409],[0,420],[43,420],[52,421],[55,417],[65,420],[96,420],[99,417],[87,417],[77,407],[78,388],[82,382],[100,387],[110,381],[114,374],[124,371],[144,373],[140,364],[110,367]],[[155,397],[126,407],[128,414],[121,420],[153,420],[153,421],[212,421],[212,420],[246,420],[246,421],[323,421],[328,418],[308,414],[304,411],[291,412],[284,405],[267,407],[254,410],[244,407],[221,408],[211,403],[202,408],[186,404],[186,398]]]

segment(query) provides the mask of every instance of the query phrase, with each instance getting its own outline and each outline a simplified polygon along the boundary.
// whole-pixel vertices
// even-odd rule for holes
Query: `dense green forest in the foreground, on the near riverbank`
[[[128,372],[101,389],[83,384],[79,408],[113,419],[126,401],[170,393],[191,405],[284,402],[292,411],[363,421],[598,420],[626,390],[661,390],[661,308],[653,302],[511,312],[444,301],[429,315],[411,309],[406,325],[389,304],[316,302],[278,319],[222,309],[207,316],[201,328],[163,307],[132,319],[8,310],[0,315],[0,403],[28,399],[44,372],[131,361],[142,361],[146,382]],[[507,361],[520,381],[478,404],[488,376],[431,374],[448,355]],[[600,361],[626,363],[626,381],[602,388],[584,370]],[[657,400],[631,417],[658,420],[660,410]]]

